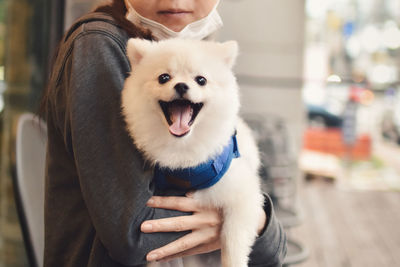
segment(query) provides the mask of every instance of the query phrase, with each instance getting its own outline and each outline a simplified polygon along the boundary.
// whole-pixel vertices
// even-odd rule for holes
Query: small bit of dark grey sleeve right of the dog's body
[[[272,200],[265,196],[264,211],[267,215],[267,225],[257,238],[250,254],[249,266],[280,267],[286,256],[286,234],[276,218]]]

